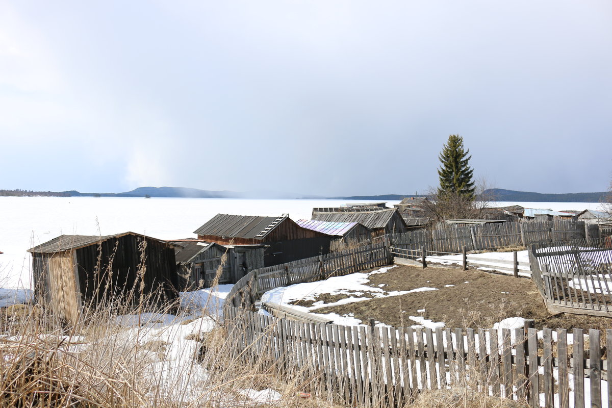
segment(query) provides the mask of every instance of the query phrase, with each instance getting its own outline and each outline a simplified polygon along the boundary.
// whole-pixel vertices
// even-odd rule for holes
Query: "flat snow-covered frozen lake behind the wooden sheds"
[[[0,287],[29,287],[31,247],[61,234],[110,235],[133,231],[159,239],[195,237],[217,213],[310,218],[313,207],[347,200],[221,198],[0,197]],[[398,201],[387,201],[388,206]],[[593,202],[499,202],[552,210],[598,209]]]

